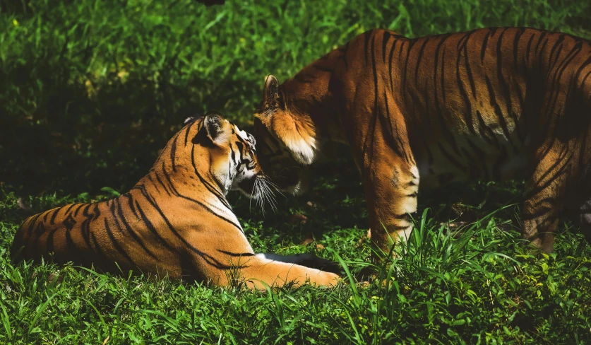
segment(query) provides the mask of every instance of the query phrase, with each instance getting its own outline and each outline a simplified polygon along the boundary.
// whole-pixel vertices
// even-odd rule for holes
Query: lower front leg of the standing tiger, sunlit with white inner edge
[[[371,242],[388,254],[393,245],[407,242],[412,214],[417,211],[419,170],[397,157],[382,158],[366,174]]]

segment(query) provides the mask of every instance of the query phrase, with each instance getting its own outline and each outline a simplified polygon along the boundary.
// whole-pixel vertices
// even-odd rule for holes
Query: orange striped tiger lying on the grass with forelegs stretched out
[[[216,286],[335,286],[338,274],[299,264],[323,267],[329,260],[253,252],[226,194],[261,197],[268,177],[255,143],[218,112],[189,118],[129,192],[27,218],[11,247],[13,261],[73,262]]]

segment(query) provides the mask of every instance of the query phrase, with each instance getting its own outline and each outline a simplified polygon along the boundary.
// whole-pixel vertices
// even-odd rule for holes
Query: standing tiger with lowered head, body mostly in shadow
[[[269,76],[255,126],[263,169],[292,192],[324,144],[349,144],[383,250],[410,235],[419,180],[525,179],[523,238],[550,252],[567,208],[591,240],[589,40],[371,30],[281,85]]]

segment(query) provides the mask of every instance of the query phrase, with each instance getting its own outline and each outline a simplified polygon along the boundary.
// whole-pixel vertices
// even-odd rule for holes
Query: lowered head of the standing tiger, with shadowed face
[[[286,105],[279,82],[268,76],[263,102],[255,113],[254,133],[265,171],[277,188],[299,194],[309,180],[309,165],[318,153],[314,124],[308,114]]]

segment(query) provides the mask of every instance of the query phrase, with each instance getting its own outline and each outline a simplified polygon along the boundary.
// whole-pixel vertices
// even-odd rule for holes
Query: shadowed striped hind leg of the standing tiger
[[[554,233],[564,201],[568,174],[566,149],[551,150],[525,183],[522,237],[544,252],[554,249]]]

